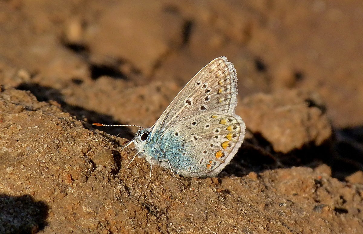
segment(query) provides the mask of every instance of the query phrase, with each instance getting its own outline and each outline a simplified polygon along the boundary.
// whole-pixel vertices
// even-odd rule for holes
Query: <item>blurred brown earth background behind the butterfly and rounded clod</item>
[[[342,179],[363,168],[362,25],[361,0],[0,1],[0,83],[89,123],[152,126],[193,75],[227,56],[239,100],[314,96]]]

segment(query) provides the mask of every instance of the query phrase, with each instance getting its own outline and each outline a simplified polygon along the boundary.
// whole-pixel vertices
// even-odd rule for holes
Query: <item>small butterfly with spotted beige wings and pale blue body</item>
[[[134,158],[150,163],[150,177],[154,164],[184,177],[214,177],[244,140],[245,123],[235,114],[237,93],[236,69],[222,56],[184,86],[154,126],[93,124],[139,127],[125,147],[135,143]]]

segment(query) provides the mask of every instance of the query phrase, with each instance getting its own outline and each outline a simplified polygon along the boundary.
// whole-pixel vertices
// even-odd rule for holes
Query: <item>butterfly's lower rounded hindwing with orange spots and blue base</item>
[[[166,152],[173,170],[184,176],[215,176],[231,161],[245,136],[238,115],[199,114],[166,130]]]

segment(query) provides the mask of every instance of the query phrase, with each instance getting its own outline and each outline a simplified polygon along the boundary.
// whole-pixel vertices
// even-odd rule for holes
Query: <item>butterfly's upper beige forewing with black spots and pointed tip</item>
[[[160,134],[185,118],[214,112],[234,115],[237,105],[236,69],[219,57],[200,70],[179,92],[153,126]]]

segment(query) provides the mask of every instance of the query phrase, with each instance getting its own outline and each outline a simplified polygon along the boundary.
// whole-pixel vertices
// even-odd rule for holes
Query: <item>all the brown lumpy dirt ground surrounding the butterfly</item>
[[[361,0],[0,1],[0,233],[363,233]],[[216,178],[121,151],[227,56]],[[118,135],[118,137],[116,137]]]

